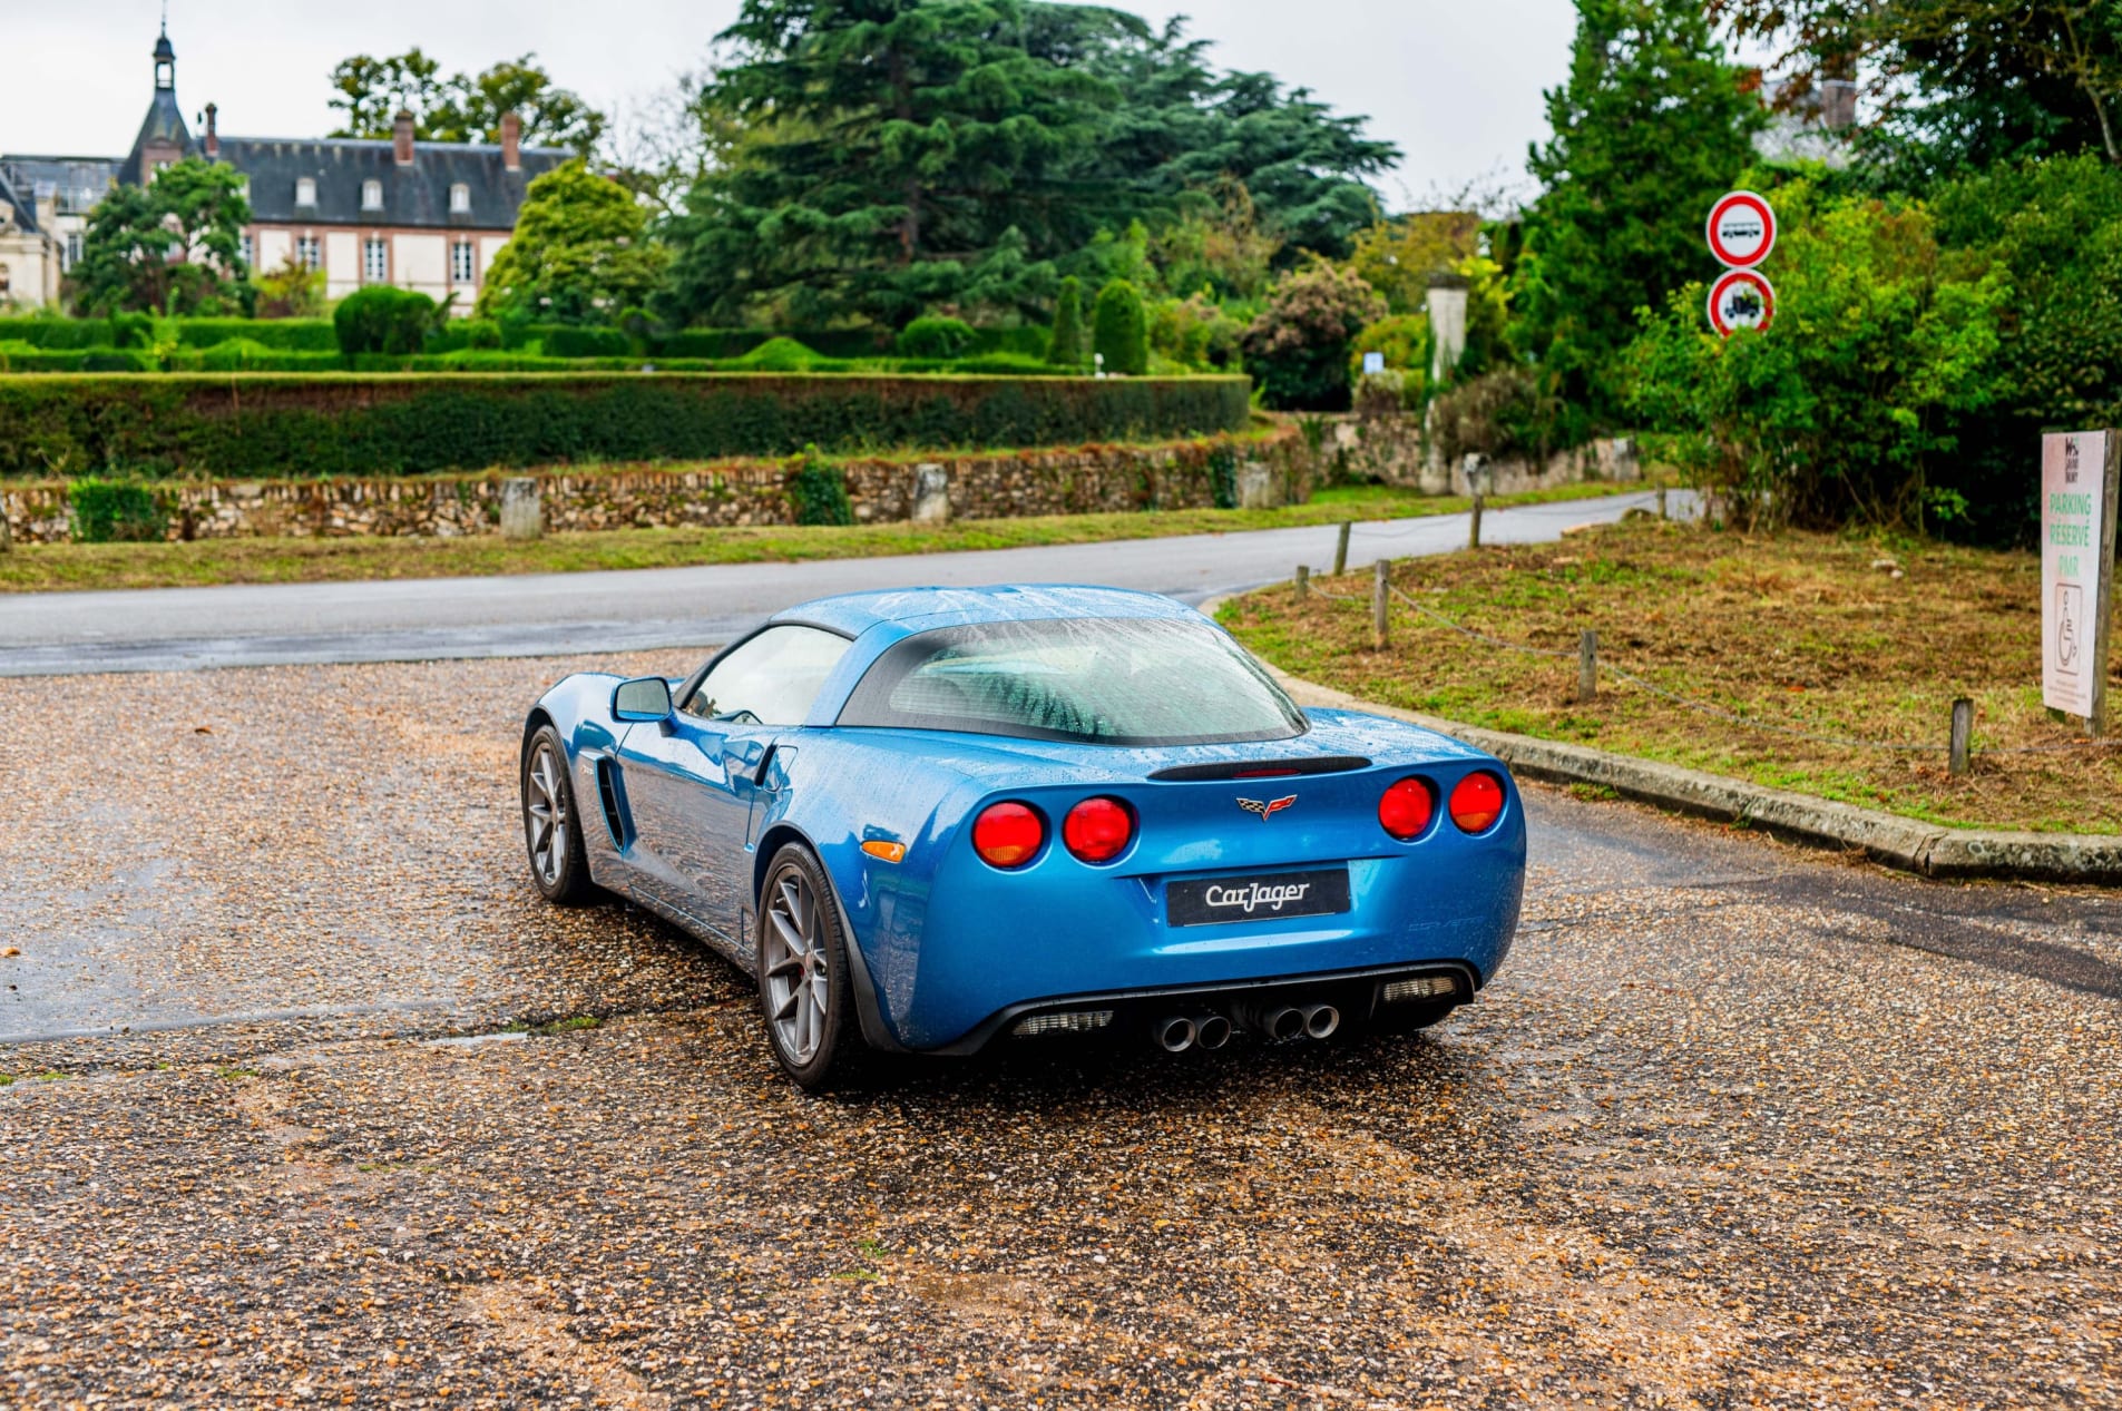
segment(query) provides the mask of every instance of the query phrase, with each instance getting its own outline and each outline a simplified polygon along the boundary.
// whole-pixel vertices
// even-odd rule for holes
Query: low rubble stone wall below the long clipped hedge
[[[855,520],[915,518],[917,482],[940,471],[949,513],[966,520],[1214,505],[1216,463],[1233,471],[1248,505],[1299,503],[1311,494],[1311,456],[1290,426],[1263,437],[1216,437],[1154,446],[1082,446],[915,460],[834,460],[847,475]],[[789,524],[787,460],[641,465],[535,473],[550,530]],[[501,533],[503,484],[518,473],[346,480],[172,480],[153,488],[170,539],[253,535],[352,537]],[[72,539],[66,486],[0,484],[17,543]],[[936,516],[932,494],[923,518]]]

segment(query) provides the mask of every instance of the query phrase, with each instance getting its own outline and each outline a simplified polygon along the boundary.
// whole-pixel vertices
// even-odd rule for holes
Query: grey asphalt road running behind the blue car
[[[1538,543],[1651,501],[1498,509],[1481,533]],[[806,564],[8,594],[0,677],[705,647],[789,603],[923,583],[1108,583],[1197,603],[1286,579],[1299,562],[1324,569],[1333,541],[1324,526]],[[1464,543],[1466,516],[1364,522],[1350,567]]]

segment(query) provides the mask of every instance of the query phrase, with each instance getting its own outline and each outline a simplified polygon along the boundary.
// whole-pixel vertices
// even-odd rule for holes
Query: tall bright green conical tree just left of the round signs
[[[1551,390],[1619,412],[1615,365],[1640,308],[1704,274],[1702,221],[1753,157],[1761,104],[1693,0],[1579,0],[1570,76],[1515,272],[1515,342]]]

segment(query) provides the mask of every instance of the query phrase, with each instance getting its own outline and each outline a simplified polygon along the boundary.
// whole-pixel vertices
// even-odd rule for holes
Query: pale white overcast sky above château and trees
[[[1541,138],[1541,89],[1568,64],[1570,0],[1108,0],[1184,13],[1227,68],[1269,70],[1364,112],[1407,161],[1388,204],[1492,174],[1517,176]],[[0,0],[8,66],[0,153],[119,155],[151,87],[161,0]],[[348,53],[420,45],[448,68],[537,51],[611,110],[698,66],[736,0],[170,0],[187,117],[223,132],[312,136],[331,125],[325,74]]]

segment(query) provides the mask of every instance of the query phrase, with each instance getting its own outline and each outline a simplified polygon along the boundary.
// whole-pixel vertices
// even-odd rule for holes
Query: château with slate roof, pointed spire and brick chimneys
[[[246,178],[250,225],[244,259],[276,269],[293,259],[325,272],[340,299],[363,284],[456,295],[469,312],[494,255],[516,229],[533,178],[573,153],[524,146],[516,115],[501,142],[416,142],[401,112],[388,140],[221,136],[206,104],[193,134],[176,102],[176,49],[155,40],[155,93],[140,136],[123,157],[0,153],[0,303],[59,301],[66,269],[81,259],[89,214],[125,182],[144,185],[185,157],[223,161]]]

